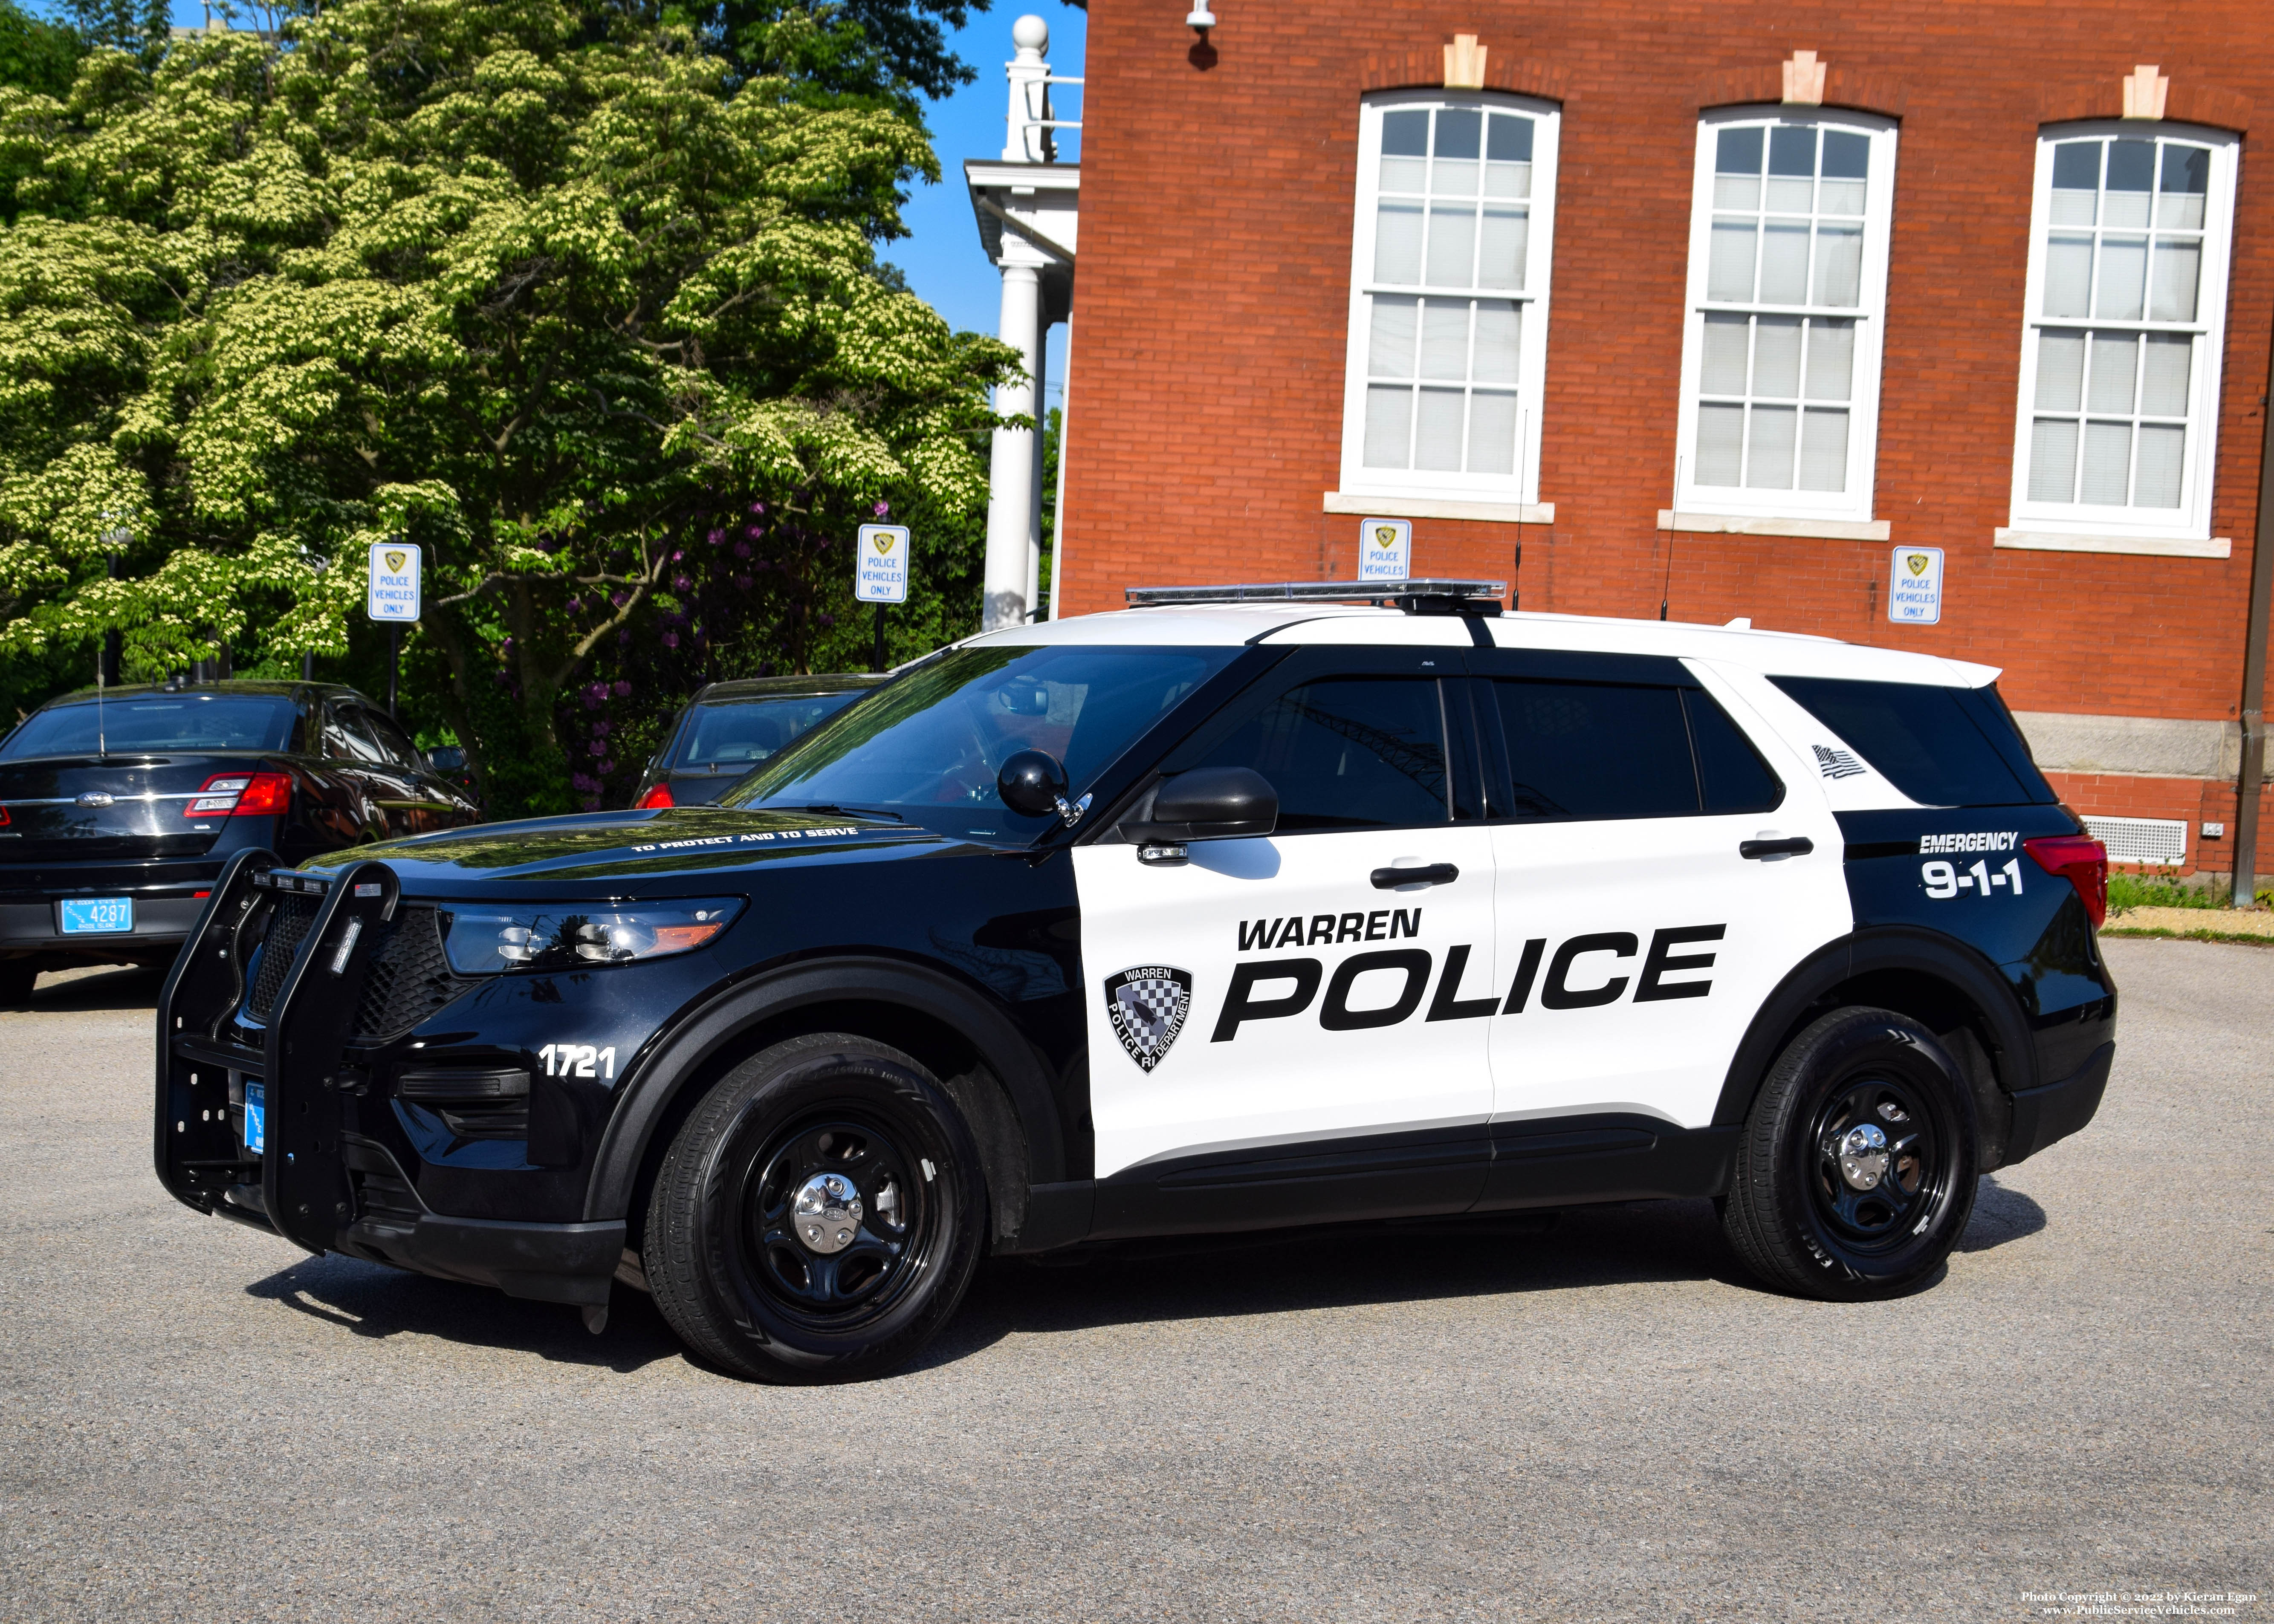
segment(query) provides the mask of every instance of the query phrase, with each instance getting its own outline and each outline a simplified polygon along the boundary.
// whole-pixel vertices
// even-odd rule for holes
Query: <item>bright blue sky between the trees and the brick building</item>
[[[978,80],[955,96],[932,102],[926,118],[932,125],[932,150],[939,155],[941,180],[937,187],[916,187],[907,200],[910,237],[889,243],[885,259],[907,273],[932,307],[955,328],[994,334],[1003,305],[1003,282],[980,248],[978,225],[971,221],[971,193],[964,191],[966,157],[1003,155],[1003,109],[1010,91],[1003,80],[1003,64],[1012,57],[1010,25],[1032,11],[1051,25],[1051,66],[1060,73],[1082,73],[1082,43],[1089,18],[1060,0],[996,0],[991,11],[980,11],[955,34],[955,55],[978,68]],[[200,0],[173,0],[175,27],[200,27],[205,7]],[[1078,96],[1078,93],[1076,93]],[[1060,118],[1080,118],[1076,96],[1057,102]],[[1064,132],[1062,132],[1064,134]],[[1078,155],[1078,136],[1060,146],[1067,157]],[[1048,393],[1057,403],[1060,378],[1064,378],[1067,330],[1051,330]]]

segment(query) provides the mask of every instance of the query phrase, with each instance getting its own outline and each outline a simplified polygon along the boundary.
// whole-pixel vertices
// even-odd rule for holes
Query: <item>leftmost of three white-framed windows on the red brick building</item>
[[[1369,96],[1358,121],[1342,489],[1533,503],[1553,102]]]

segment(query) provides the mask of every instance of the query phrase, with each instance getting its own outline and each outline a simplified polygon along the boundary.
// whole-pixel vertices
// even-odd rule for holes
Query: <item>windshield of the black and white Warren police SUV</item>
[[[1048,751],[1073,798],[1237,648],[957,648],[814,728],[725,796],[737,807],[894,812],[944,835],[1028,839],[1046,819],[996,794],[1014,751]]]

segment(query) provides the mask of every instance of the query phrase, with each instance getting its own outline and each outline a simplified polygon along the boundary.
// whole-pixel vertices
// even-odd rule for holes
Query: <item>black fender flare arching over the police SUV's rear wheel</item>
[[[1737,1044],[1728,1076],[1721,1080],[1721,1099],[1712,1112],[1715,1126],[1737,1126],[1751,1115],[1753,1096],[1776,1062],[1785,1033],[1810,1003],[1844,980],[1890,969],[1949,983],[1983,1012],[1999,1051],[1999,1092],[2010,1099],[2038,1085],[2038,1046],[2031,1039],[2028,1019],[2022,1014],[2012,987],[1990,960],[1965,942],[1935,930],[1869,926],[1837,942],[1826,942],[1803,958],[1753,1012],[1753,1024]]]

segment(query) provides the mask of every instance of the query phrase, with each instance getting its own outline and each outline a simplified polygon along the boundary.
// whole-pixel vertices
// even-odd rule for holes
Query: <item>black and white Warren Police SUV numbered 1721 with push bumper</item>
[[[159,1178],[766,1381],[1107,1237],[1710,1196],[1778,1290],[1931,1281],[2115,1053],[2106,853],[1997,673],[1499,594],[1132,591],[723,805],[246,853]]]

